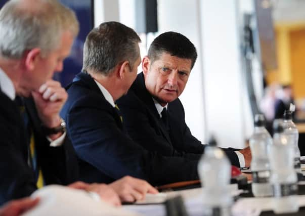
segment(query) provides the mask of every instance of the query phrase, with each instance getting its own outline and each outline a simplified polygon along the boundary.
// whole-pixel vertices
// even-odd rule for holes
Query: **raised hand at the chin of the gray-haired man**
[[[38,92],[32,92],[32,97],[42,124],[49,128],[59,126],[61,123],[59,112],[68,98],[60,82],[48,80],[41,85]],[[61,133],[50,138],[55,140],[60,136]]]

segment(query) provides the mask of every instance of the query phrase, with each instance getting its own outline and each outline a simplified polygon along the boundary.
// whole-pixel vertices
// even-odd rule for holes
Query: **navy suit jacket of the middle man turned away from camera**
[[[197,160],[165,157],[131,140],[89,74],[77,74],[67,92],[61,115],[79,158],[81,180],[110,183],[129,175],[162,185],[198,179]]]

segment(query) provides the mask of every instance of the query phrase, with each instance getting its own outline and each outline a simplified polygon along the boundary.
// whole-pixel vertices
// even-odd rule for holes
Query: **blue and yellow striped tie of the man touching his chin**
[[[28,140],[27,143],[29,143],[29,158],[28,158],[28,164],[31,166],[35,172],[35,178],[37,180],[36,186],[37,188],[42,188],[45,185],[45,181],[43,180],[41,167],[37,164],[37,151],[35,148],[35,139],[34,139],[34,133],[32,129],[29,128],[29,118],[26,113],[25,107],[23,105],[23,101],[21,98],[16,99],[17,104],[19,105],[21,116],[24,119],[24,125],[27,132]]]

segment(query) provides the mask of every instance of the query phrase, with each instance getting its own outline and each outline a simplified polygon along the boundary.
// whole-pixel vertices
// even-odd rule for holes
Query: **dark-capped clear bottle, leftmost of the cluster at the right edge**
[[[249,139],[252,160],[252,193],[255,197],[272,196],[270,180],[269,150],[272,138],[264,127],[265,118],[262,114],[254,117],[254,133]]]

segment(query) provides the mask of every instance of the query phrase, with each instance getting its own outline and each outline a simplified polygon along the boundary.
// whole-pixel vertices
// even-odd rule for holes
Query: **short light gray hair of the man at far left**
[[[20,59],[33,48],[47,55],[58,48],[64,31],[77,35],[79,24],[73,11],[56,0],[34,3],[11,0],[0,10],[0,56]]]

